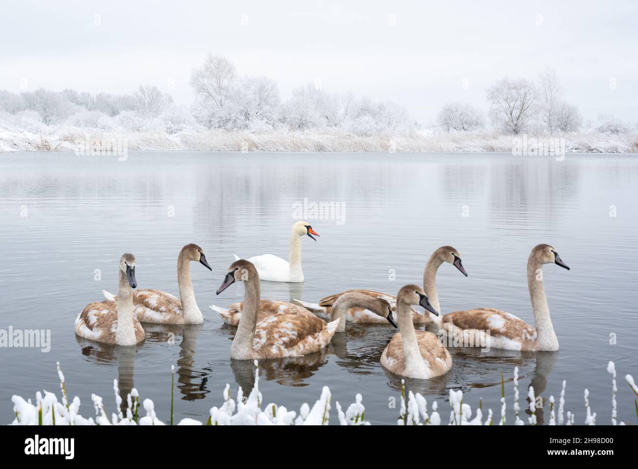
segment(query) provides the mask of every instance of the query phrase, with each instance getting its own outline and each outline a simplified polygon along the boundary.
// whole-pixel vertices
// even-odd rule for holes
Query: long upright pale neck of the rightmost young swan
[[[535,261],[531,255],[527,263],[527,285],[530,290],[531,310],[534,313],[536,327],[535,350],[548,352],[558,350],[558,338],[554,332],[554,325],[549,317],[549,306],[543,285],[542,264]]]

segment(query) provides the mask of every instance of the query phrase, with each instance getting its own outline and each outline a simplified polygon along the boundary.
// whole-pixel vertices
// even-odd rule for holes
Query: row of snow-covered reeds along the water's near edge
[[[611,371],[610,371],[611,370]],[[76,396],[73,401],[68,401],[66,383],[64,375],[57,364],[57,371],[60,378],[62,389],[62,402],[57,401],[57,397],[52,392],[40,391],[36,392],[36,403],[33,404],[31,399],[23,399],[20,396],[13,396],[13,412],[15,419],[13,425],[165,425],[165,422],[159,419],[155,412],[155,406],[151,399],[144,399],[142,407],[146,415],[138,417],[139,395],[135,388],[131,390],[126,398],[126,413],[122,412],[122,398],[119,394],[117,380],[114,380],[113,389],[115,392],[115,412],[108,418],[106,407],[103,399],[96,394],[91,395],[93,406],[95,408],[95,416],[85,418],[78,413],[80,408],[80,399]],[[174,367],[171,368],[171,383],[174,387]],[[609,362],[607,371],[615,376],[615,366],[613,362]],[[613,373],[612,373],[613,371]],[[638,387],[634,383],[631,375],[625,376],[632,391],[638,397]],[[524,425],[524,421],[519,417],[519,392],[518,392],[518,368],[514,369],[513,391],[514,391],[514,411],[516,413],[515,425]],[[575,421],[574,413],[567,412],[567,419],[563,421],[563,408],[565,405],[565,381],[560,393],[560,404],[558,406],[558,421],[554,413],[554,396],[550,396],[550,417],[549,424],[573,425]],[[172,388],[171,387],[171,388]],[[612,382],[612,422],[616,424],[616,383]],[[310,406],[304,403],[299,413],[288,410],[285,406],[279,406],[275,403],[268,403],[263,406],[262,393],[259,391],[259,367],[255,361],[255,385],[248,395],[244,398],[244,391],[241,386],[237,389],[237,399],[233,399],[230,394],[230,385],[226,387],[222,393],[223,403],[219,407],[212,407],[205,422],[196,419],[181,419],[177,425],[327,425],[330,419],[330,409],[332,408],[332,395],[330,389],[324,386],[320,398],[315,404]],[[171,405],[169,423],[173,424],[173,389],[171,389]],[[589,392],[584,391],[585,398],[585,424],[596,424],[596,413],[592,413],[589,405]],[[528,388],[528,401],[530,417],[528,422],[532,425],[537,424],[536,401],[533,387]],[[637,401],[638,402],[638,401]],[[450,389],[449,392],[450,405],[450,425],[493,425],[493,412],[487,410],[487,417],[484,416],[482,405],[479,405],[476,412],[472,412],[472,408],[463,402],[463,392],[460,390]],[[638,404],[637,404],[638,406]],[[433,401],[431,405],[432,412],[429,413],[427,400],[421,394],[408,391],[404,387],[404,381],[401,381],[401,406],[399,410],[399,425],[440,425],[441,416],[438,413],[438,402]],[[341,425],[369,425],[365,419],[366,408],[363,405],[361,394],[355,396],[355,402],[352,403],[345,412],[341,405],[336,402],[337,418]],[[505,385],[501,376],[501,419],[500,425],[505,424]],[[620,422],[619,425],[624,425]]]

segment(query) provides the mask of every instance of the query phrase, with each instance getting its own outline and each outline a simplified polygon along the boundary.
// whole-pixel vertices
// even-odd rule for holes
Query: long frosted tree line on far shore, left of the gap
[[[131,94],[78,93],[37,89],[0,91],[0,125],[37,132],[42,126],[128,131],[339,130],[361,136],[415,128],[408,112],[396,103],[366,96],[340,95],[311,82],[282,101],[268,77],[241,76],[223,56],[209,54],[191,72],[195,102],[178,105],[158,87],[140,85]]]

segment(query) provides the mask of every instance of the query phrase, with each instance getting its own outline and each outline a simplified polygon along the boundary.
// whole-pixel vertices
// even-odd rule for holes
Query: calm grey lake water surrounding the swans
[[[533,383],[544,396],[539,421],[549,421],[567,380],[565,411],[584,422],[590,391],[599,424],[611,422],[612,360],[618,370],[619,419],[636,423],[624,380],[638,378],[638,157],[567,154],[258,154],[131,152],[117,157],[69,153],[0,155],[0,329],[50,329],[51,350],[0,348],[0,423],[13,419],[11,395],[59,392],[56,361],[82,413],[94,415],[91,393],[115,409],[113,379],[134,385],[168,419],[170,367],[175,365],[175,417],[207,419],[230,383],[252,386],[251,364],[231,362],[235,328],[209,304],[243,299],[244,288],[215,290],[233,254],[288,257],[293,205],[337,202],[345,223],[306,220],[321,235],[302,239],[303,284],[262,282],[262,297],[317,301],[349,288],[396,294],[420,283],[431,252],[459,250],[469,276],[444,264],[437,284],[443,313],[473,307],[504,309],[533,324],[526,283],[530,249],[552,244],[571,267],[545,265],[544,281],[560,352],[521,354],[450,349],[454,366],[431,381],[408,380],[449,419],[450,389],[473,408],[500,414],[505,376],[508,422],[512,372],[519,367],[521,407]],[[611,207],[611,206],[614,207]],[[616,216],[610,216],[615,209]],[[26,212],[25,212],[26,210]],[[21,216],[27,214],[27,216]],[[169,216],[174,214],[174,216]],[[463,216],[464,214],[469,216]],[[184,244],[204,248],[212,272],[191,263],[200,326],[146,327],[137,348],[105,347],[75,336],[75,316],[101,290],[117,291],[122,253],[137,257],[140,287],[177,294],[176,259]],[[100,269],[101,280],[95,271]],[[396,280],[390,280],[396,272]],[[314,403],[323,385],[350,405],[363,395],[366,419],[394,424],[400,379],[379,364],[394,329],[348,326],[322,354],[263,361],[265,403],[290,410]],[[526,421],[526,417],[524,417]]]

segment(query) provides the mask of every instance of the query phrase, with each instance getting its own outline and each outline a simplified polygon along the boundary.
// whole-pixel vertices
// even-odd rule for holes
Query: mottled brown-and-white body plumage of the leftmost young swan
[[[133,319],[135,339],[138,343],[145,338],[144,328],[137,319]],[[114,301],[96,301],[87,304],[75,320],[75,333],[85,339],[103,343],[115,343],[117,331],[117,303]]]

